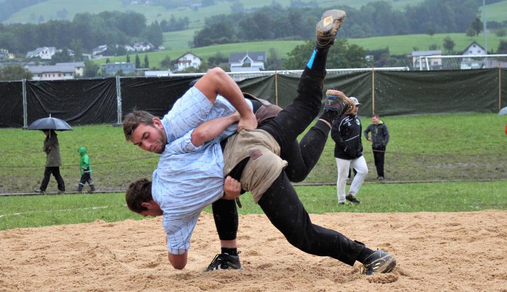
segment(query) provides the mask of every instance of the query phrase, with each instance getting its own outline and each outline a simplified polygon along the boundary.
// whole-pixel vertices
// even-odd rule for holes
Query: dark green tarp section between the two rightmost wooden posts
[[[495,112],[498,69],[375,72],[375,113]]]

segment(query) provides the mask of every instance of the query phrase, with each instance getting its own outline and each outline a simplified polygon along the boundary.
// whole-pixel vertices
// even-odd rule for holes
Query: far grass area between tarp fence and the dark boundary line
[[[370,119],[363,117],[364,127]],[[448,114],[382,117],[391,133],[386,153],[389,181],[507,179],[505,116],[496,114]],[[0,193],[24,193],[38,188],[46,155],[40,131],[0,129]],[[124,142],[121,127],[110,125],[74,127],[58,132],[67,190],[77,187],[79,154],[85,146],[90,155],[92,178],[100,191],[124,190],[136,178],[151,178],[158,156]],[[363,137],[364,155],[376,178],[371,146]],[[329,139],[319,162],[305,183],[334,183],[334,142]],[[56,191],[54,179],[48,192]]]

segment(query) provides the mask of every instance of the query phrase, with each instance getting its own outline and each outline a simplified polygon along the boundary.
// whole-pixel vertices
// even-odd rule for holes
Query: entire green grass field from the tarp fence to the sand
[[[369,118],[363,117],[363,124]],[[386,183],[376,177],[369,144],[364,155],[370,173],[359,193],[364,204],[336,204],[334,143],[329,140],[305,183],[297,186],[309,213],[328,212],[460,212],[507,210],[507,136],[505,116],[496,114],[449,114],[383,117],[391,139],[386,154]],[[40,131],[0,129],[0,193],[30,192],[42,179],[45,155]],[[59,132],[64,166],[61,173],[67,191],[79,181],[77,149],[88,148],[92,178],[99,191],[124,190],[127,182],[151,177],[158,156],[124,142],[120,127],[74,127]],[[490,182],[388,183],[397,180],[477,180]],[[48,192],[56,191],[52,178]],[[262,213],[251,196],[242,197],[240,214]],[[210,208],[205,209],[211,212]],[[97,219],[106,222],[142,217],[127,210],[124,193],[0,196],[0,230],[77,224]]]

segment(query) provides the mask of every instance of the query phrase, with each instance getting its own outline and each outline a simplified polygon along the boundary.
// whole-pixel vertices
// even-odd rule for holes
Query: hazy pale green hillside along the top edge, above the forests
[[[422,2],[423,0],[399,0],[392,2],[394,8],[401,9],[407,5],[414,5]],[[236,1],[151,1],[160,5],[132,5],[134,1],[130,0],[0,0],[2,2],[19,3],[25,2],[26,7],[19,8],[17,11],[12,11],[12,14],[5,15],[0,18],[4,23],[38,23],[42,16],[45,20],[67,19],[71,20],[78,13],[100,13],[102,11],[120,11],[120,12],[137,12],[146,16],[148,23],[153,21],[161,22],[164,19],[169,19],[171,15],[176,17],[189,17],[192,19],[190,28],[198,28],[204,25],[204,18],[220,14],[231,14],[233,8],[231,5],[236,4],[236,7],[244,9],[245,11],[252,11],[264,6],[269,6],[276,2],[280,6],[287,7],[301,7],[312,6],[327,9],[330,7],[339,8],[341,6],[350,6],[360,8],[363,5],[371,2],[371,0],[236,0]],[[138,1],[140,2],[140,1]],[[164,7],[163,4],[170,4]],[[194,3],[203,3],[204,5],[197,8],[192,6]],[[207,3],[212,5],[205,6]],[[30,5],[31,4],[31,5]],[[79,4],[79,5],[78,5]],[[238,5],[239,4],[239,5]],[[4,8],[5,9],[5,8]],[[7,10],[7,9],[6,9]],[[58,11],[66,11],[66,13],[57,13]],[[5,11],[5,14],[8,12]],[[0,14],[1,15],[1,14]],[[1,16],[0,16],[1,17]]]

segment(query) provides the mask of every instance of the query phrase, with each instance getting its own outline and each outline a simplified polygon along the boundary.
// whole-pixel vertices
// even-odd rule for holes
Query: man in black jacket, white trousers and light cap
[[[363,157],[363,145],[361,144],[361,121],[357,117],[358,105],[360,103],[355,97],[351,97],[355,102],[355,108],[350,114],[344,114],[342,117],[333,121],[331,128],[331,138],[335,141],[335,158],[338,166],[338,180],[336,182],[338,203],[345,204],[345,200],[359,204],[355,196],[359,188],[363,185],[368,166],[365,157]],[[350,171],[350,165],[357,172],[350,185],[349,192],[345,196],[345,184]]]

